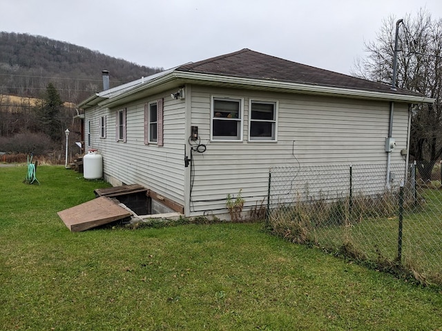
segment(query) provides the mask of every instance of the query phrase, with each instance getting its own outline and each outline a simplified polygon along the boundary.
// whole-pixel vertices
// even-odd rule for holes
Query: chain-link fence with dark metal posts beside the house
[[[442,284],[440,174],[439,163],[425,183],[405,163],[271,168],[267,222],[296,243]]]

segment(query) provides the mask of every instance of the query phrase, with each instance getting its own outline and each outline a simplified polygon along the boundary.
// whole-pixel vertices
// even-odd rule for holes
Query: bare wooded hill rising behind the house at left
[[[102,70],[111,87],[159,72],[71,43],[30,34],[0,32],[0,94],[39,97],[52,83],[63,101],[78,103],[102,90]]]

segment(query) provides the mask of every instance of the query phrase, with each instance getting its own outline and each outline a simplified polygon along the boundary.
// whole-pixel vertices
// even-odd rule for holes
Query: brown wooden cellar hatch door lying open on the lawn
[[[108,197],[99,197],[57,214],[71,232],[88,230],[131,216],[131,212]]]

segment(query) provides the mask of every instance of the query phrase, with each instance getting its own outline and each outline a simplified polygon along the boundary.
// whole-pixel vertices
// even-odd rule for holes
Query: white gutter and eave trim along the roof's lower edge
[[[356,90],[351,88],[338,88],[333,86],[309,85],[302,83],[290,83],[285,81],[271,81],[266,79],[250,79],[241,77],[220,76],[215,74],[200,74],[195,72],[171,71],[156,79],[141,84],[131,90],[100,103],[100,106],[112,106],[123,103],[126,99],[135,97],[136,94],[150,88],[160,86],[171,81],[181,83],[211,83],[213,85],[228,84],[231,86],[244,86],[247,88],[260,88],[262,90],[288,90],[293,92],[305,92],[309,94],[327,94],[341,97],[353,97],[358,99],[377,99],[385,101],[403,101],[407,103],[434,103],[435,99],[414,96],[410,94],[398,94],[391,92],[376,92],[368,90]]]

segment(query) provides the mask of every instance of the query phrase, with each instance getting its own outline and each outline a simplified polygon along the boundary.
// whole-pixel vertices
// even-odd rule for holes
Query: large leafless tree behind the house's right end
[[[367,58],[356,61],[352,74],[391,83],[396,19],[383,21],[375,41],[365,43]],[[410,157],[424,181],[431,180],[434,163],[442,156],[442,19],[420,10],[407,14],[398,30],[397,87],[436,99],[412,110]]]

